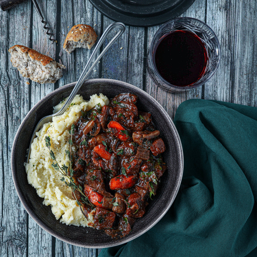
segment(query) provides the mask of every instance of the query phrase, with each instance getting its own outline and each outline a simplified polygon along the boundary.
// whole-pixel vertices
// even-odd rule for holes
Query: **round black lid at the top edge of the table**
[[[185,12],[195,0],[89,0],[114,21],[132,26],[153,26]]]

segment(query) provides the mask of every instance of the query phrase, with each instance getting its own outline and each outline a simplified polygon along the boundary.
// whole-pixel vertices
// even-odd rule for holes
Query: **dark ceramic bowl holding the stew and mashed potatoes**
[[[113,240],[103,231],[89,227],[67,226],[56,220],[51,207],[42,204],[43,198],[29,185],[23,163],[26,161],[26,150],[29,148],[32,132],[40,118],[50,115],[53,106],[64,97],[68,97],[75,85],[71,83],[54,90],[41,99],[26,115],[15,136],[11,155],[11,167],[17,194],[29,215],[34,221],[51,235],[67,243],[89,248],[103,248],[126,243],[153,227],[167,212],[173,203],[182,178],[183,154],[178,132],[163,107],[143,90],[128,83],[112,79],[90,79],[85,81],[79,90],[84,99],[90,95],[103,93],[113,98],[120,93],[131,92],[138,96],[139,110],[150,112],[157,130],[166,144],[163,153],[168,170],[161,177],[157,194],[146,207],[145,215],[137,219],[129,235]]]

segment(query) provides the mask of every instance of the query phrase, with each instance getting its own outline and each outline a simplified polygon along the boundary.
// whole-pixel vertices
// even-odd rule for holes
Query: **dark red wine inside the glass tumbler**
[[[204,74],[208,57],[205,44],[192,32],[166,35],[155,48],[153,61],[160,75],[175,86],[189,86]]]

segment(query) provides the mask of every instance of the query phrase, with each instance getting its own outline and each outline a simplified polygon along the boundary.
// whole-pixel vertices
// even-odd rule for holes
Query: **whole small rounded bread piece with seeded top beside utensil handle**
[[[96,42],[97,35],[92,27],[86,24],[78,24],[68,32],[63,48],[71,53],[77,47],[90,49]]]

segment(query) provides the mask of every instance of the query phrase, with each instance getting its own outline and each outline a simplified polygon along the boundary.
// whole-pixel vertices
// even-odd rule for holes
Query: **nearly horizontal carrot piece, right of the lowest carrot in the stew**
[[[136,175],[130,175],[126,177],[125,175],[118,175],[112,178],[109,182],[109,186],[111,190],[115,189],[127,189],[133,187],[137,181]]]

